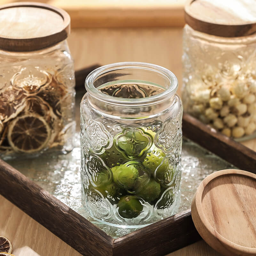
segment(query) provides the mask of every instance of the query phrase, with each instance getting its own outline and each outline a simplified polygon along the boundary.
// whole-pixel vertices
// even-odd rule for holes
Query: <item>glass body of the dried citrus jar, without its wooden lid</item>
[[[36,52],[0,51],[0,156],[70,151],[75,79],[67,41]]]

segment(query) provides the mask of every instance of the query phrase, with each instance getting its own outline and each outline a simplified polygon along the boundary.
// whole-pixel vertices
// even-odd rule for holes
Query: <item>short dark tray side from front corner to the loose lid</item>
[[[164,255],[200,239],[189,209],[115,239],[113,255]]]

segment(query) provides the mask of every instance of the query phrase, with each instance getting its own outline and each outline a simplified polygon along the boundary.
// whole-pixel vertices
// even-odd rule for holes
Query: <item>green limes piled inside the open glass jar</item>
[[[155,132],[151,130],[145,131],[145,134],[147,136],[149,134],[152,138],[155,136]],[[143,133],[134,133],[132,136],[136,142],[135,146],[144,145]],[[126,152],[132,152],[131,138],[128,139],[130,144]],[[121,217],[132,219],[143,211],[143,201],[154,205],[161,198],[168,187],[168,182],[172,179],[173,172],[170,170],[168,159],[164,158],[165,154],[154,144],[142,155],[138,153],[137,159],[133,160],[120,152],[116,145],[114,143],[110,149],[100,155],[113,173],[113,180],[108,184],[99,185],[97,190],[111,204],[116,204]],[[122,150],[125,150],[125,145],[123,136]]]

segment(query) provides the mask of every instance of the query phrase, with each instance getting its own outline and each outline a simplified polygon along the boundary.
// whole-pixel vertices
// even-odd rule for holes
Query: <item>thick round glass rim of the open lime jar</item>
[[[144,98],[118,98],[115,96],[107,95],[94,86],[94,81],[98,77],[112,71],[122,72],[122,70],[124,69],[141,69],[150,71],[152,73],[155,73],[156,75],[161,75],[168,81],[169,86],[163,92]],[[177,88],[178,80],[177,77],[172,73],[172,71],[168,70],[167,68],[145,62],[118,62],[108,64],[96,68],[85,79],[85,89],[92,97],[112,105],[144,106],[156,104],[157,102],[166,100],[167,98],[170,98],[172,95],[174,95],[177,91]]]

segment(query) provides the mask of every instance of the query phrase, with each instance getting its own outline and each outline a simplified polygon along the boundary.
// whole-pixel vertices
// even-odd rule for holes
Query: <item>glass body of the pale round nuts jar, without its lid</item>
[[[256,35],[183,32],[184,111],[236,140],[256,135]]]

